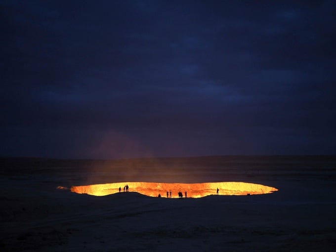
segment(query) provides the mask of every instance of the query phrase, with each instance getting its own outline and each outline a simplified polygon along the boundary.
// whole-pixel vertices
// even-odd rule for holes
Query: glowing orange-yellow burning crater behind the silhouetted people
[[[274,187],[269,187],[260,184],[244,183],[244,182],[214,182],[214,183],[195,183],[195,184],[183,184],[183,183],[150,183],[150,182],[120,182],[110,184],[96,184],[96,185],[82,185],[72,186],[71,191],[75,193],[86,193],[95,196],[104,196],[114,193],[119,193],[119,187],[121,193],[124,193],[124,187],[128,185],[129,191],[138,192],[147,196],[158,197],[170,197],[178,198],[178,192],[187,192],[187,197],[200,198],[212,194],[219,195],[252,195],[252,194],[265,194],[278,191]],[[125,188],[125,193],[126,188]]]

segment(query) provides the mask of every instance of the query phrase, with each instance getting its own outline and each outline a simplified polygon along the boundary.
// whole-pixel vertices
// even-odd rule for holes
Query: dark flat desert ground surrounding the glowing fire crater
[[[0,159],[0,251],[335,251],[335,156],[103,160]],[[251,196],[76,194],[123,181],[240,181]],[[215,192],[214,192],[215,194]]]

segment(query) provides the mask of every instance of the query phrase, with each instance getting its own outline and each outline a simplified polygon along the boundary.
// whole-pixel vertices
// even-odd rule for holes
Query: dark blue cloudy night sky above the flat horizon
[[[1,0],[0,14],[0,156],[336,154],[333,0]]]

